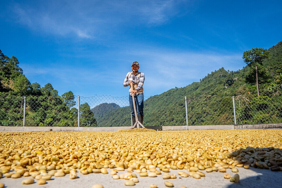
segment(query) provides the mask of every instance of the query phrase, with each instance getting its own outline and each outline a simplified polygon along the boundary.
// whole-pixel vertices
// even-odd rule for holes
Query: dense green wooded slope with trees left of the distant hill
[[[16,57],[0,50],[0,126],[23,125],[23,96],[26,96],[27,126],[77,126],[78,109],[71,91],[59,96],[50,83],[30,83]],[[96,126],[87,103],[80,105],[80,125]]]

